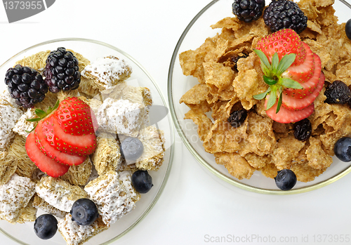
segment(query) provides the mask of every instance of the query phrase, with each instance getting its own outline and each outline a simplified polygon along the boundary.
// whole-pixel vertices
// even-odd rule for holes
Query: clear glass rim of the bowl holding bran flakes
[[[303,192],[310,192],[312,190],[317,190],[321,187],[329,185],[329,184],[335,182],[336,180],[343,178],[343,176],[346,176],[347,173],[351,172],[351,166],[346,168],[344,171],[341,171],[336,176],[333,176],[332,178],[326,179],[320,183],[317,183],[317,184],[311,185],[311,186],[307,186],[307,187],[300,187],[298,189],[293,189],[293,190],[289,190],[289,191],[268,190],[268,189],[263,189],[263,188],[259,188],[259,187],[253,187],[251,185],[246,185],[244,183],[240,183],[239,181],[233,180],[232,178],[229,178],[229,177],[223,175],[223,173],[220,173],[220,171],[218,171],[216,168],[213,168],[213,166],[208,164],[208,162],[206,160],[204,160],[199,155],[199,153],[194,149],[194,147],[192,147],[192,145],[189,143],[189,141],[185,137],[185,133],[183,132],[183,129],[181,128],[181,126],[178,122],[176,110],[175,110],[175,107],[173,105],[173,93],[172,93],[173,67],[176,64],[179,48],[182,45],[183,40],[185,39],[185,37],[187,35],[187,32],[189,32],[189,30],[192,28],[192,25],[194,25],[194,22],[196,22],[199,19],[199,17],[208,10],[208,8],[211,8],[211,6],[213,6],[213,4],[216,4],[218,1],[220,1],[220,0],[213,0],[209,4],[207,4],[204,8],[201,9],[201,11],[199,11],[199,13],[197,13],[197,15],[195,15],[195,17],[190,21],[189,25],[187,25],[183,34],[180,36],[180,39],[178,40],[176,48],[173,51],[173,55],[171,58],[171,64],[169,65],[169,69],[168,69],[168,104],[169,104],[169,107],[171,109],[171,116],[173,119],[173,124],[176,126],[176,130],[177,130],[178,134],[180,135],[180,138],[183,140],[183,143],[185,144],[187,149],[192,153],[192,155],[195,157],[195,159],[197,159],[197,161],[199,161],[199,163],[202,166],[207,168],[208,171],[213,173],[218,178],[224,180],[227,183],[230,183],[231,185],[239,187],[243,190],[248,190],[250,192],[256,192],[256,193],[260,193],[260,194],[284,195],[284,194],[299,194],[299,193],[303,193]],[[348,8],[351,9],[351,4],[347,3],[347,1],[345,1],[345,0],[338,0],[338,1],[345,4],[345,6],[347,6]]]

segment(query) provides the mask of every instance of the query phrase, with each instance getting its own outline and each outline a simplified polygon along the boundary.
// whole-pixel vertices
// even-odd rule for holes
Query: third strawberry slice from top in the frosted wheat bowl
[[[34,131],[35,143],[41,152],[43,152],[46,156],[50,157],[54,161],[69,166],[79,165],[85,161],[86,157],[84,156],[72,156],[70,154],[60,152],[59,150],[55,149],[55,147],[51,146],[44,138],[45,136],[43,133],[43,124],[45,124],[45,121],[39,121]]]

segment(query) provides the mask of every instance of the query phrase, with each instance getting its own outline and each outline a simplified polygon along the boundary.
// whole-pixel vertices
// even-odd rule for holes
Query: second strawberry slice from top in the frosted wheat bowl
[[[55,145],[57,150],[67,154],[86,156],[92,154],[96,147],[94,133],[81,136],[65,133],[53,116],[44,121],[43,133],[51,146]]]

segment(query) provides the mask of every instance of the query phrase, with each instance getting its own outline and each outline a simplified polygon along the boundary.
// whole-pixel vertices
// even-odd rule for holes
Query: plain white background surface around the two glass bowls
[[[0,64],[42,41],[96,39],[138,60],[166,97],[168,66],[176,43],[208,2],[56,0],[46,11],[12,24],[0,6]],[[350,175],[304,194],[256,194],[232,187],[206,171],[177,134],[175,150],[171,175],[159,201],[114,244],[214,244],[210,240],[216,237],[227,237],[221,244],[271,244],[269,240],[274,239],[275,244],[283,244],[281,237],[298,239],[286,244],[346,244],[336,238],[351,239]],[[324,234],[328,237],[323,242]],[[318,235],[322,235],[320,242]],[[232,236],[241,242],[230,242]],[[255,236],[262,242],[250,239]],[[0,240],[0,244],[15,244],[2,234]]]

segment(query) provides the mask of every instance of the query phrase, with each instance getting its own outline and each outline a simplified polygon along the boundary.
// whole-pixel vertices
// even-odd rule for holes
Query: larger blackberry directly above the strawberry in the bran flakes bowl
[[[307,17],[298,4],[289,0],[272,1],[263,12],[263,20],[272,32],[290,28],[299,34],[307,27]]]

